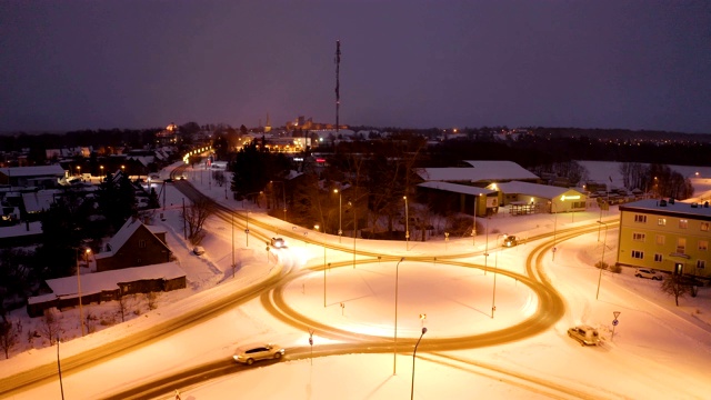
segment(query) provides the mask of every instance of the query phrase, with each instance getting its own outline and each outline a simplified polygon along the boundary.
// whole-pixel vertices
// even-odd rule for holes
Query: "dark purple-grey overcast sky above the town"
[[[711,133],[709,1],[4,1],[0,131],[282,126]]]

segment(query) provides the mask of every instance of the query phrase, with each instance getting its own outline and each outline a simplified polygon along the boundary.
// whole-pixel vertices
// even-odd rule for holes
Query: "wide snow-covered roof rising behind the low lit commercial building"
[[[418,171],[427,181],[499,181],[539,179],[534,173],[511,161],[464,161],[472,168],[423,168]]]

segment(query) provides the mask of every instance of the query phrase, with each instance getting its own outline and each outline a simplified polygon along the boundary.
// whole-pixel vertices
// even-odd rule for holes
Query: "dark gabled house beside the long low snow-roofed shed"
[[[166,229],[148,226],[138,218],[129,218],[109,240],[104,251],[94,256],[97,271],[150,266],[170,261]]]

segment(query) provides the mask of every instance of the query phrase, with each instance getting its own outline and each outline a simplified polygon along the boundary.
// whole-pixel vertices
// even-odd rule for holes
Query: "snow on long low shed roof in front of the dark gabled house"
[[[177,279],[184,277],[186,272],[177,262],[163,262],[159,264],[123,268],[111,271],[86,273],[81,276],[81,294],[89,296],[100,293],[103,290],[116,290],[118,283],[134,282],[151,279]],[[46,280],[52,290],[51,294],[42,294],[28,299],[28,303],[37,303],[56,297],[79,297],[77,277],[64,277]]]

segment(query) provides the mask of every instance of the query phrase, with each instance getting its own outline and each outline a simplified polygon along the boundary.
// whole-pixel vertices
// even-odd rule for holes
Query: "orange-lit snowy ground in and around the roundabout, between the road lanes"
[[[588,167],[590,168],[590,167]],[[607,168],[607,169],[605,169]],[[594,167],[603,181],[608,176],[617,180],[617,171],[609,163]],[[711,176],[711,171],[701,170]],[[592,172],[592,169],[591,169]],[[695,172],[689,172],[693,173]],[[688,176],[688,174],[687,174]],[[216,200],[242,208],[241,201],[226,199],[224,188],[212,184],[206,172],[189,171],[189,180]],[[594,177],[593,177],[594,178]],[[703,194],[703,177],[699,178],[698,196]],[[695,183],[694,183],[695,184]],[[230,226],[217,219],[208,221],[209,232],[202,243],[207,252],[202,257],[190,253],[182,239],[182,222],[178,218],[182,197],[171,186],[166,186],[166,221],[168,242],[188,273],[189,288],[161,294],[157,310],[149,311],[143,301],[137,300],[138,312],[127,323],[106,328],[97,324],[96,333],[61,344],[62,357],[114,340],[132,329],[156,323],[179,314],[191,303],[206,301],[224,291],[246,290],[280,268],[304,268],[324,262],[323,248],[299,240],[290,241],[290,249],[278,256],[282,267],[268,259],[264,247],[250,236],[249,247],[241,230],[236,230],[232,242]],[[158,189],[157,189],[158,190]],[[708,196],[707,196],[708,198]],[[250,218],[267,220],[264,210],[250,207]],[[617,208],[603,213],[614,218]],[[572,218],[569,218],[572,217]],[[532,237],[539,231],[558,229],[594,221],[599,212],[511,217],[504,212],[490,220],[490,231]],[[272,222],[284,231],[292,227],[281,221]],[[602,233],[604,234],[604,233]],[[324,237],[309,232],[309,238]],[[568,311],[551,330],[518,342],[490,348],[461,350],[444,353],[418,352],[417,380],[413,397],[418,399],[452,398],[633,398],[633,399],[704,399],[711,392],[708,369],[711,366],[711,291],[703,288],[697,298],[673,299],[657,289],[658,283],[638,279],[632,271],[621,274],[603,273],[600,298],[595,300],[599,271],[592,267],[600,260],[607,243],[605,260],[613,262],[617,251],[617,230],[610,229],[607,240],[598,233],[562,242],[555,260],[545,258],[549,278],[565,299]],[[350,241],[349,241],[350,240]],[[408,256],[429,253],[460,253],[484,248],[484,236],[470,239],[443,239],[413,242],[405,249],[402,242],[373,242],[358,240],[359,249],[380,251],[383,254],[405,257],[399,276],[398,336],[417,338],[424,324],[428,338],[478,333],[500,329],[529,316],[535,308],[535,298],[520,282],[499,274],[495,291],[495,318],[490,317],[492,303],[492,273],[459,267],[444,267],[407,261]],[[497,239],[493,234],[489,243]],[[336,240],[338,241],[338,240]],[[352,243],[352,239],[343,238]],[[236,246],[240,268],[232,277],[232,246]],[[498,268],[523,272],[524,256],[537,243],[493,252],[470,260],[483,264],[494,262]],[[330,251],[328,262],[347,261],[352,256]],[[286,291],[289,303],[312,319],[370,334],[389,336],[392,332],[392,290],[394,263],[373,262],[358,268],[340,268],[329,271],[327,307],[323,307],[323,274],[313,272],[290,283]],[[344,307],[340,307],[343,303]],[[620,324],[612,337],[612,312],[620,311]],[[116,306],[84,307],[84,313],[116,314]],[[22,312],[13,313],[20,318]],[[76,310],[62,313],[64,337],[79,337]],[[23,318],[23,320],[28,320]],[[31,320],[32,323],[37,319]],[[582,348],[565,336],[565,330],[584,322],[598,327],[604,343],[599,348]],[[30,320],[27,322],[30,324]],[[109,396],[130,383],[153,379],[197,366],[210,360],[229,358],[233,348],[244,341],[273,340],[287,349],[308,343],[308,332],[277,322],[262,310],[259,299],[230,310],[198,327],[181,331],[170,338],[151,343],[129,354],[101,366],[64,376],[67,398],[94,399]],[[329,342],[314,333],[314,347]],[[32,347],[16,351],[0,361],[0,379],[18,370],[54,360],[54,349],[46,348],[41,339],[33,339]],[[405,397],[411,390],[412,357],[398,356],[398,373],[393,376],[393,356],[350,354],[289,361],[268,368],[256,368],[223,379],[204,382],[199,387],[177,388],[182,399],[224,399],[239,393],[243,398],[294,399],[391,399]],[[277,384],[274,384],[277,383]],[[168,398],[170,394],[166,394]],[[59,398],[57,382],[41,384],[13,399]]]

